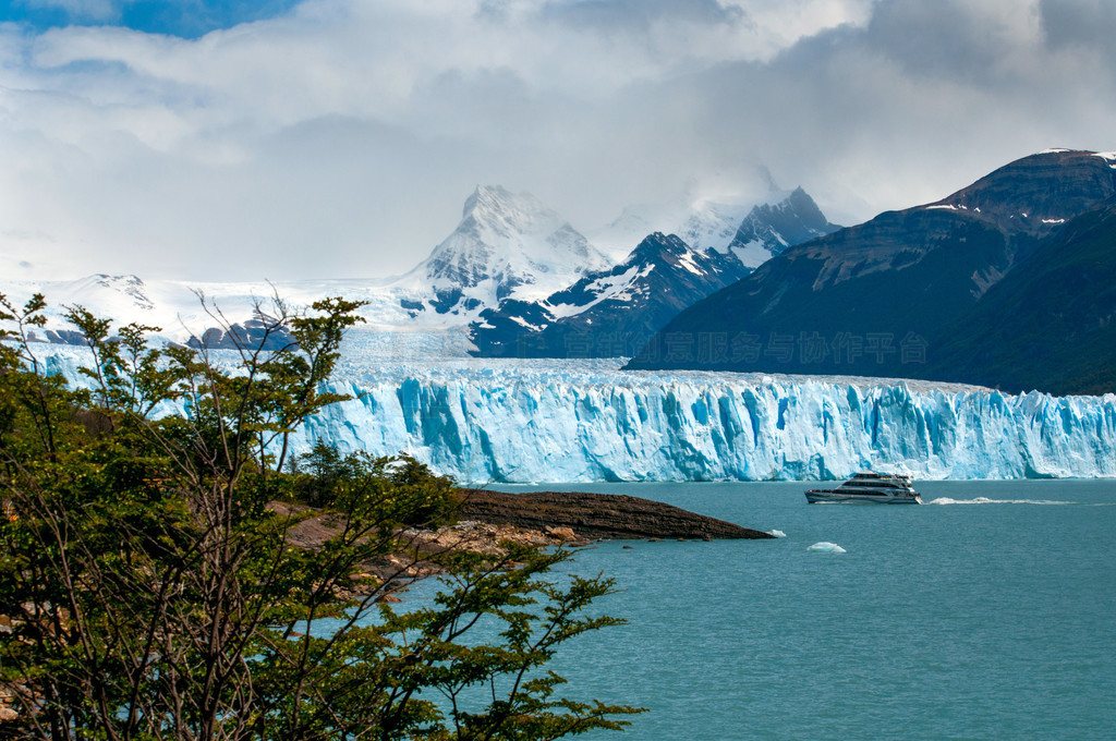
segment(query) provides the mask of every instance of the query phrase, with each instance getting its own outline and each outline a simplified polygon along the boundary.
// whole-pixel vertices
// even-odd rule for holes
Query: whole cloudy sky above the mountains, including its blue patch
[[[1116,148],[1110,0],[9,0],[0,270],[403,272],[478,183],[840,223]]]

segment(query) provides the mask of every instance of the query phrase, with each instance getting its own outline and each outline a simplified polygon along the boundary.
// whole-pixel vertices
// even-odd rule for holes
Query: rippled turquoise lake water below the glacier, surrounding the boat
[[[578,738],[1116,738],[1116,482],[925,482],[923,507],[807,504],[808,485],[537,487],[787,533],[579,552],[568,570],[615,577],[600,604],[628,624],[552,667],[567,695],[648,712]]]

